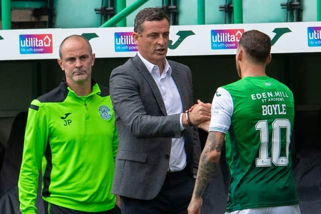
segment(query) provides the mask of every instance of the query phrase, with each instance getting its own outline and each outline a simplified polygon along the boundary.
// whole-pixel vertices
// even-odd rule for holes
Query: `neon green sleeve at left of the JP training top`
[[[34,100],[28,110],[23,159],[18,181],[20,210],[23,214],[37,211],[38,176],[47,139],[45,112],[41,103]]]

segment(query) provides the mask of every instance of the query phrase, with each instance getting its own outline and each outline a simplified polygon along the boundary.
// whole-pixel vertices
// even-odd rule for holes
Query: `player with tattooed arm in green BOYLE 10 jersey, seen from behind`
[[[217,89],[189,213],[200,213],[202,194],[221,148],[231,175],[226,213],[300,213],[289,150],[294,101],[290,89],[266,76],[271,39],[245,32],[236,54],[239,81]],[[225,142],[226,139],[226,142]]]

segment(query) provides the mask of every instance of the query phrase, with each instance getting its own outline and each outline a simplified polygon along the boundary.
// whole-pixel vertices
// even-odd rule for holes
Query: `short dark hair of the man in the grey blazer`
[[[162,21],[166,19],[170,25],[170,18],[161,8],[145,8],[138,12],[134,21],[134,32],[141,34],[143,32],[142,24],[145,21]]]

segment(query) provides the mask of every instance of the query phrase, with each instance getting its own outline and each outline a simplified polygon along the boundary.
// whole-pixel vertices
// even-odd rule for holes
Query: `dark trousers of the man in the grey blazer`
[[[161,191],[151,200],[120,196],[122,214],[186,214],[195,178],[185,171],[169,172]],[[148,184],[146,184],[148,185]]]

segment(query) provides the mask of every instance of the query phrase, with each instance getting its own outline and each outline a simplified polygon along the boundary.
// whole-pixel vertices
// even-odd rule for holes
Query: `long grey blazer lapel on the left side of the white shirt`
[[[151,74],[147,70],[146,66],[139,59],[137,54],[136,54],[136,56],[134,56],[132,58],[132,62],[134,63],[134,65],[136,66],[138,71],[141,73],[141,75],[145,78],[147,83],[149,84],[150,89],[151,89],[151,91],[152,91],[152,93],[153,93],[153,95],[154,95],[154,97],[155,97],[155,99],[156,99],[156,101],[158,103],[158,106],[161,109],[162,113],[164,114],[164,116],[167,116],[167,111],[166,111],[166,107],[165,107],[161,92],[159,92],[157,84],[155,83],[155,81],[152,78]]]

